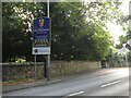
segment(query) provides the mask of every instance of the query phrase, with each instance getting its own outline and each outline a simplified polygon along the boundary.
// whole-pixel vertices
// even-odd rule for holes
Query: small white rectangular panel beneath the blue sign
[[[33,47],[33,54],[50,54],[50,47]]]

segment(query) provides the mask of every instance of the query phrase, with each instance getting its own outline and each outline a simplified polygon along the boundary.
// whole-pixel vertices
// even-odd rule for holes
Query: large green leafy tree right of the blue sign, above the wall
[[[53,16],[59,21],[56,20],[53,23],[58,22],[58,25],[52,27],[52,32],[56,34],[52,35],[55,38],[52,47],[57,46],[57,48],[52,48],[52,57],[56,59],[100,60],[107,56],[111,41],[109,32],[105,27],[106,17],[116,15],[106,14],[102,9],[108,9],[106,5],[110,4],[58,3],[56,5],[57,15]],[[97,10],[98,8],[99,10]],[[109,10],[114,11],[114,9]]]

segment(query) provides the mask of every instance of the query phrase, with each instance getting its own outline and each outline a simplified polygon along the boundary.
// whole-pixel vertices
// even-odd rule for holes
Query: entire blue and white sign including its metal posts
[[[37,17],[33,23],[33,49],[32,53],[35,61],[35,78],[36,78],[36,56],[45,54],[45,76],[49,81],[50,74],[50,47],[51,47],[51,35],[50,35],[50,19],[49,19],[49,0],[47,0],[47,17]]]

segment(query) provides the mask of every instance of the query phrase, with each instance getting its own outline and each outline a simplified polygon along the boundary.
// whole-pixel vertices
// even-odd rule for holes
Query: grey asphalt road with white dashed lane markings
[[[104,69],[66,82],[4,93],[3,96],[129,96],[129,68]]]

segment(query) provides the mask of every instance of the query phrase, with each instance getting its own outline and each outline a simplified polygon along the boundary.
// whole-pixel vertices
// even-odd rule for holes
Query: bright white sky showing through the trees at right
[[[119,9],[121,9],[121,11],[123,12],[124,15],[128,15],[130,0],[121,0],[121,1],[123,4]],[[112,36],[112,40],[115,41],[116,45],[118,45],[119,44],[119,36],[126,35],[126,32],[122,30],[122,26],[108,22],[107,27],[110,30],[110,35]]]

